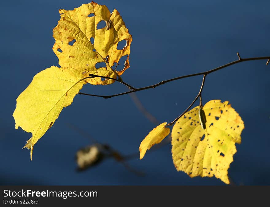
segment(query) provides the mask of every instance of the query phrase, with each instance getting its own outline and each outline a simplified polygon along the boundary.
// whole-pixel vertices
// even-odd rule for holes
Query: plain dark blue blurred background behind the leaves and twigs
[[[1,123],[0,184],[2,185],[225,185],[216,178],[189,178],[177,172],[168,144],[147,152],[131,166],[138,177],[113,159],[82,173],[74,155],[90,144],[67,127],[75,124],[123,154],[138,151],[154,124],[138,111],[129,95],[111,99],[77,95],[55,124],[35,145],[33,161],[22,150],[30,133],[15,130],[17,96],[33,76],[58,66],[52,51],[52,29],[58,9],[73,10],[88,1],[3,1],[1,3]],[[122,75],[134,87],[176,76],[203,72],[241,57],[269,56],[270,1],[102,1],[116,8],[133,36],[131,67]],[[229,174],[237,185],[269,185],[270,67],[266,61],[243,62],[207,76],[203,101],[229,100],[245,123],[242,143]],[[186,78],[137,96],[160,122],[171,122],[197,95],[201,76]],[[110,95],[125,86],[85,85],[81,92]],[[198,102],[195,104],[198,105]],[[194,106],[195,106],[194,105]],[[93,110],[94,109],[94,110]],[[89,112],[91,110],[91,113]]]

